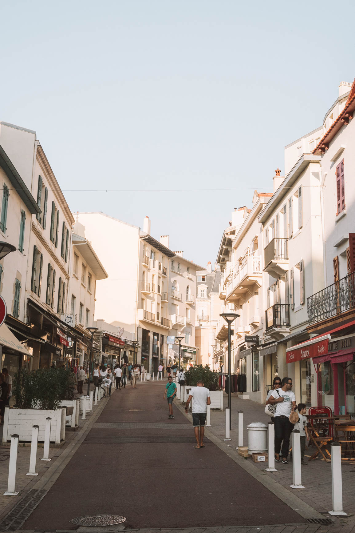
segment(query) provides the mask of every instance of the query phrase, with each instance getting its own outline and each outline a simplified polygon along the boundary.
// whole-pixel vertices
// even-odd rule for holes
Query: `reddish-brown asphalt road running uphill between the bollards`
[[[304,523],[213,443],[195,449],[187,418],[175,409],[168,419],[165,385],[128,385],[102,400],[96,424],[23,529],[75,530],[72,518],[98,513],[125,516],[126,528]]]

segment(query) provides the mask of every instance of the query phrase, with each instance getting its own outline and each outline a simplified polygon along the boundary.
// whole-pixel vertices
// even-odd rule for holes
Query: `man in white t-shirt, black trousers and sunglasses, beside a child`
[[[275,422],[275,461],[280,461],[280,447],[282,462],[287,464],[288,448],[290,447],[291,431],[294,424],[291,424],[288,417],[291,411],[294,411],[297,407],[296,397],[292,392],[292,379],[290,377],[284,377],[282,380],[282,388],[275,389],[268,399],[267,403],[273,405],[276,403],[276,411],[274,415]]]

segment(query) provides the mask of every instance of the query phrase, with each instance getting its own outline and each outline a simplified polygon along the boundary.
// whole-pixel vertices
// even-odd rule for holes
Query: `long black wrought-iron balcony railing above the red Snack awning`
[[[308,325],[355,309],[355,272],[307,298]]]

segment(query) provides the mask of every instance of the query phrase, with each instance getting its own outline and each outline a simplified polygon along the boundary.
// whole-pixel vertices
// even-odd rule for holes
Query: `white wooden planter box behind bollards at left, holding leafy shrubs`
[[[52,418],[51,442],[60,444],[65,439],[65,409],[59,407],[56,410],[47,409],[17,409],[5,407],[3,445],[11,440],[12,434],[18,434],[20,442],[30,442],[32,438],[32,426],[37,424],[38,442],[44,442],[45,424],[47,417]]]

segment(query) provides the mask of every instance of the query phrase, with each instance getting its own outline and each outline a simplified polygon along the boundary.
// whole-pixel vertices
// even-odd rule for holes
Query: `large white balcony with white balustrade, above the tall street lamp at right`
[[[255,289],[261,287],[261,258],[258,255],[245,257],[238,270],[230,273],[226,286],[226,298],[230,302],[247,300]]]

